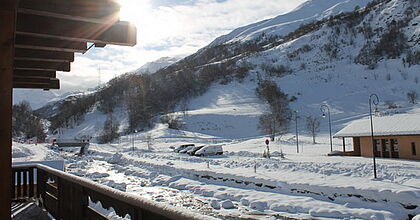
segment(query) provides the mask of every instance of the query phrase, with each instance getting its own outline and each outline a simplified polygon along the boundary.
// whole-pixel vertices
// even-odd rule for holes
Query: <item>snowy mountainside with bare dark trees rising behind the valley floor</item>
[[[154,74],[118,77],[99,92],[86,117],[115,113],[120,131],[133,132],[172,112],[185,123],[184,130],[256,137],[261,135],[258,118],[269,110],[255,94],[261,80],[276,82],[288,94],[291,110],[299,111],[301,130],[306,116],[321,114],[321,104],[331,108],[334,131],[366,116],[371,93],[379,95],[385,114],[385,101],[399,106],[393,112],[415,111],[406,96],[420,92],[420,3],[372,1],[363,8],[362,2],[367,3],[309,1],[288,14],[234,30]],[[102,113],[97,111],[101,106]],[[87,127],[90,122],[81,120],[67,129]]]

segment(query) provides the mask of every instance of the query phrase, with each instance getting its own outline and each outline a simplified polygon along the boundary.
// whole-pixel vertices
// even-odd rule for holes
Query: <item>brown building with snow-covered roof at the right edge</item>
[[[397,114],[373,117],[373,144],[370,119],[354,121],[337,132],[335,138],[353,139],[353,151],[345,156],[404,158],[420,160],[420,115]],[[344,146],[343,146],[344,147]]]

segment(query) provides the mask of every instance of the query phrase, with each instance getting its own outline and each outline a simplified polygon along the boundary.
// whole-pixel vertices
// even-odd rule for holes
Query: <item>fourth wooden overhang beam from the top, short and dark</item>
[[[15,49],[15,59],[51,62],[73,62],[74,53],[62,51]]]

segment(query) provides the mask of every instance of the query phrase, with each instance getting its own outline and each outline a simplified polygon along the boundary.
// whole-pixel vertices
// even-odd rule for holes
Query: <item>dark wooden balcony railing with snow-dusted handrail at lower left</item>
[[[112,207],[131,219],[203,219],[199,214],[168,207],[50,167],[19,165],[12,169],[12,199],[36,199],[55,219],[107,219],[89,200]]]

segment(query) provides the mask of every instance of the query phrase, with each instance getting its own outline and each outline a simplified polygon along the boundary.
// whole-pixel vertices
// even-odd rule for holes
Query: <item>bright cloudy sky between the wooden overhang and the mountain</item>
[[[305,0],[120,0],[121,20],[137,26],[134,47],[76,55],[58,73],[62,92],[87,89],[161,57],[186,56],[235,28],[284,14]]]

